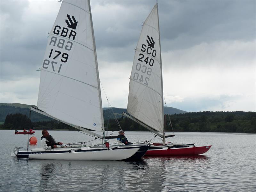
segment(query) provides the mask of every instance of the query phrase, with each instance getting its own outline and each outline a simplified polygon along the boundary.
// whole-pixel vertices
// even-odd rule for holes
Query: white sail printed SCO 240
[[[130,77],[127,112],[163,132],[163,85],[158,8],[143,23]]]

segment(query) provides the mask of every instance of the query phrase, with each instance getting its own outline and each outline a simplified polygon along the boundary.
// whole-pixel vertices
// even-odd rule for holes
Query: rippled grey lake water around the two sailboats
[[[64,143],[93,140],[76,131],[49,132]],[[41,131],[32,136],[40,141]],[[131,142],[153,138],[149,132],[125,132],[125,136]],[[15,146],[27,147],[27,139],[27,135],[0,130],[0,191],[256,190],[256,134],[177,132],[167,142],[212,145],[212,148],[201,156],[143,157],[138,162],[11,157]]]

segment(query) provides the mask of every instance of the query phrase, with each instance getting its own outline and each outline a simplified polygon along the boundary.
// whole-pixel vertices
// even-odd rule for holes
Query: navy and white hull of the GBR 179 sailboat
[[[149,145],[140,146],[112,146],[102,147],[70,147],[44,150],[34,148],[31,150],[17,150],[14,148],[14,155],[17,157],[45,160],[125,160],[140,159],[148,150]]]

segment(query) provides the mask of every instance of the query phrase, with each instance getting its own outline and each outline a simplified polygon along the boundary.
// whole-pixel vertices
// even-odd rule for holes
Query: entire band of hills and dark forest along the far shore
[[[7,115],[18,114],[20,119],[24,119],[22,114],[29,116],[29,107],[31,105],[24,105],[20,103],[1,103],[0,104],[0,121],[4,122]],[[125,108],[103,108],[103,116],[105,126],[108,126],[109,131],[117,131],[118,127],[114,116],[118,118],[118,122],[122,129],[125,131],[146,131],[140,124],[128,118],[121,118],[122,112],[126,112]],[[164,113],[170,114],[172,121],[172,127],[175,132],[256,132],[256,112],[186,112],[176,108],[164,108]],[[17,115],[16,115],[17,116]],[[15,117],[15,116],[13,116]],[[16,118],[16,117],[15,117]],[[74,130],[74,128],[61,124],[58,121],[52,120],[48,117],[41,116],[36,112],[31,113],[31,126],[38,129],[47,128],[49,130],[55,129],[68,129]],[[165,130],[172,131],[170,126],[169,117],[166,117]],[[15,125],[16,124],[16,125]],[[3,128],[13,129],[16,127],[22,127],[23,124],[19,124],[18,121],[12,121],[8,125],[2,125]],[[1,126],[0,126],[1,128]]]

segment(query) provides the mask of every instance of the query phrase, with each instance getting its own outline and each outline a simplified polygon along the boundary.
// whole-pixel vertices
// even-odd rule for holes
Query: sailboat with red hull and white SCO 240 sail
[[[211,146],[166,143],[164,130],[163,75],[159,33],[158,5],[143,23],[133,60],[124,116],[146,127],[163,138],[163,143],[152,144],[146,155],[198,155]]]

